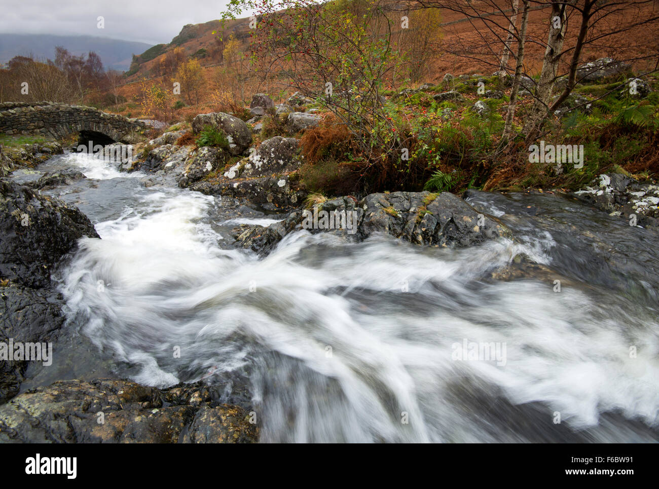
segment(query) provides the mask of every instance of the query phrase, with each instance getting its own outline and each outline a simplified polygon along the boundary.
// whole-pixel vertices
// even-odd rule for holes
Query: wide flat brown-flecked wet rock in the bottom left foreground
[[[202,384],[67,380],[0,406],[0,443],[250,443],[256,424]]]

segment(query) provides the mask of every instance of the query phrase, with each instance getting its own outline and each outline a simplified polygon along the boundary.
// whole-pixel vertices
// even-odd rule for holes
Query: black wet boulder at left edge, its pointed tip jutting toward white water
[[[29,287],[49,285],[78,239],[98,238],[78,208],[6,180],[0,180],[0,236],[0,277]]]

